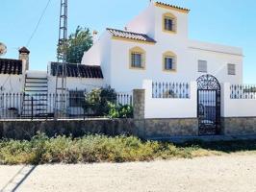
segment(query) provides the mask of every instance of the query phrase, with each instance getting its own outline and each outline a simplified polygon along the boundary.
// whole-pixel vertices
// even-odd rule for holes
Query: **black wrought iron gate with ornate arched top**
[[[200,135],[220,133],[220,85],[212,75],[197,79],[197,116]]]

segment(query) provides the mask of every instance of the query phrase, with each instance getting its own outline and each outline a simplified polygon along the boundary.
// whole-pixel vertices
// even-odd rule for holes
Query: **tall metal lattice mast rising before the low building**
[[[55,113],[65,114],[66,107],[67,0],[61,0],[57,49]]]

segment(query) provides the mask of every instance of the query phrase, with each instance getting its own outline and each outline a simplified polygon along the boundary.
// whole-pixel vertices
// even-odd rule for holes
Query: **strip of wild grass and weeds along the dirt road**
[[[133,136],[87,135],[82,138],[38,134],[32,140],[0,140],[0,164],[150,161],[256,152],[256,140],[193,141],[173,144]]]

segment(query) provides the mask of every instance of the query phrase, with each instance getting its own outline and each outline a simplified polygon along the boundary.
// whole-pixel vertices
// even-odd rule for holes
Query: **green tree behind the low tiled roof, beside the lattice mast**
[[[92,36],[88,28],[78,26],[75,33],[67,39],[66,61],[81,63],[84,52],[88,51],[93,44]]]

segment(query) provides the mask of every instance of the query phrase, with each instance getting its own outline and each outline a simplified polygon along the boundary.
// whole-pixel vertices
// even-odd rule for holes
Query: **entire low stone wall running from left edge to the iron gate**
[[[48,121],[0,121],[0,138],[30,139],[37,132],[48,136],[128,134],[141,138],[197,135],[197,119],[90,119]]]

